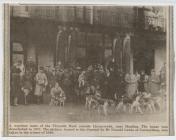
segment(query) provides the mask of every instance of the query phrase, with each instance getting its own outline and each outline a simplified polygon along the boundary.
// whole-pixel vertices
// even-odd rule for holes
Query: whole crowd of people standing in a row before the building
[[[116,68],[113,62],[106,67],[94,64],[82,68],[79,65],[64,67],[59,61],[55,67],[35,69],[24,65],[22,61],[12,66],[12,105],[45,102],[49,104],[56,95],[61,98],[64,96],[67,102],[75,103],[84,101],[84,95],[94,93],[108,99],[113,99],[114,93],[118,96],[126,94],[131,98],[136,92],[157,94],[161,88],[166,88],[165,65],[159,75],[156,75],[154,70],[150,75],[143,70],[135,74],[124,73]]]

